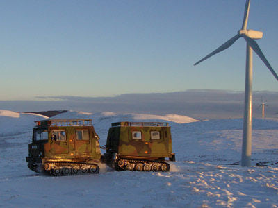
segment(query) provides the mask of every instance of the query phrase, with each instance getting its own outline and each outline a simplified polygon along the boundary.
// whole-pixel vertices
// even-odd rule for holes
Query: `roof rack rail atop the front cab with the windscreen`
[[[90,126],[92,119],[51,119],[35,121],[35,127],[40,126]]]

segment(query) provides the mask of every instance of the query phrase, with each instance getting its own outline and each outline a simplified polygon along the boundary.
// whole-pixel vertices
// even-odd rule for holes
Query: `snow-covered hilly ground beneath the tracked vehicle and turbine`
[[[92,119],[106,143],[111,123],[167,121],[177,162],[168,173],[113,171],[52,177],[27,167],[35,114],[0,110],[0,207],[278,207],[278,120],[254,119],[252,167],[243,168],[242,119],[67,112],[56,119]],[[256,166],[256,163],[268,166]]]

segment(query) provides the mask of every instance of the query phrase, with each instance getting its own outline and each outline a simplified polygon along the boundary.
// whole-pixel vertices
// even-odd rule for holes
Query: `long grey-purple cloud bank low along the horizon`
[[[278,92],[253,92],[254,117],[261,117],[261,97],[269,105],[266,117],[277,117]],[[0,101],[0,109],[17,112],[78,110],[143,114],[180,114],[195,119],[243,117],[244,92],[190,89],[184,92],[122,94],[113,97],[47,96],[40,101]]]

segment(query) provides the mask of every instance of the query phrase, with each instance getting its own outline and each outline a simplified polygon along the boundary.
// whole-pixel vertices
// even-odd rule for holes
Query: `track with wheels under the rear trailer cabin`
[[[118,164],[118,162],[119,162],[120,160],[122,160],[122,162],[124,162],[124,164],[121,165],[121,166]],[[137,165],[137,164],[142,164],[142,166],[143,166],[142,171],[144,171],[144,166],[145,166],[145,164],[149,164],[149,165],[151,166],[151,169],[150,169],[149,171],[152,171],[152,165],[153,165],[153,164],[158,164],[158,166],[159,166],[159,170],[158,170],[158,171],[162,171],[162,170],[161,170],[161,166],[162,166],[163,164],[166,164],[167,169],[166,169],[165,171],[163,171],[163,172],[170,171],[170,164],[167,164],[167,162],[154,162],[154,161],[152,161],[152,160],[117,159],[117,161],[115,162],[115,164],[116,164],[117,168],[120,168],[120,170],[123,170],[123,171],[127,171],[127,170],[126,170],[126,166],[127,166],[128,164],[133,164],[133,166],[134,166],[133,170],[131,170],[131,171],[137,171],[137,170],[136,170],[136,165]],[[156,171],[156,172],[157,172],[157,171]]]

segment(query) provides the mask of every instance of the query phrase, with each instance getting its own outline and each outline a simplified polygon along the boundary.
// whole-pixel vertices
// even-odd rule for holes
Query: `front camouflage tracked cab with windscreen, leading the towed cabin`
[[[35,121],[28,168],[51,175],[99,173],[99,137],[92,120]]]

